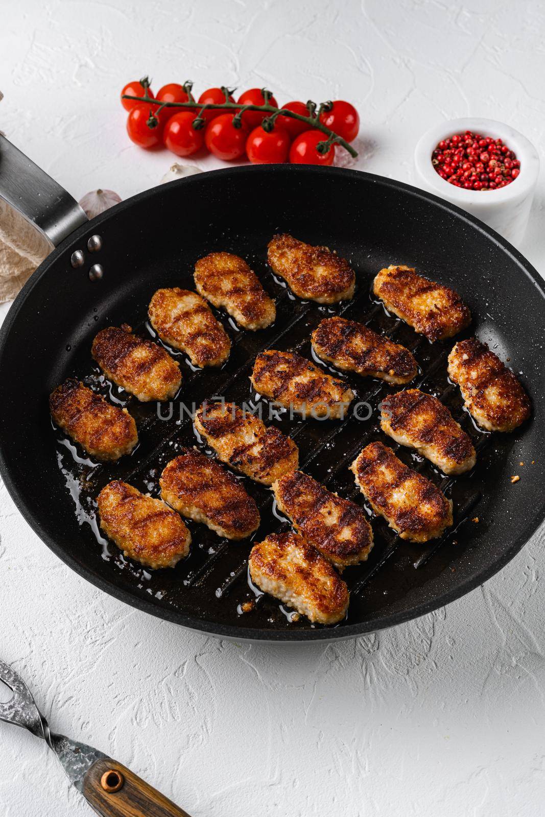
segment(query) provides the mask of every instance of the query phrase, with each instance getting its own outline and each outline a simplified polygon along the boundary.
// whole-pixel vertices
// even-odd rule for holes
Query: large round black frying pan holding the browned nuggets
[[[0,142],[0,190],[5,182],[2,169],[13,167],[12,150]],[[23,186],[24,181],[23,176]],[[51,208],[44,221],[40,203],[34,201],[35,220],[56,233],[56,240],[74,221],[83,221],[64,191],[60,198],[60,224],[51,217]],[[52,195],[54,199],[59,196]],[[159,421],[155,406],[128,400],[139,426],[140,448],[117,466],[97,469],[74,461],[47,410],[47,395],[69,375],[86,378],[114,399],[127,400],[101,382],[93,368],[94,334],[122,322],[148,331],[146,307],[155,288],[192,288],[194,261],[220,249],[248,259],[277,298],[278,319],[263,332],[237,333],[222,315],[234,341],[230,360],[219,371],[193,373],[182,356],[181,399],[197,405],[218,394],[237,401],[255,399],[248,374],[257,351],[273,346],[310,355],[310,331],[328,314],[325,307],[294,300],[267,269],[266,244],[280,231],[310,243],[328,243],[350,259],[357,271],[355,299],[333,311],[368,321],[414,349],[422,368],[414,385],[422,382],[422,388],[440,395],[462,418],[479,449],[474,472],[457,480],[446,480],[406,449],[395,449],[452,496],[457,527],[444,540],[422,547],[400,543],[382,520],[374,519],[372,555],[367,564],[346,571],[353,588],[351,606],[346,621],[333,628],[311,627],[304,618],[289,622],[288,611],[268,596],[241,613],[240,605],[254,599],[245,561],[250,543],[222,543],[203,525],[190,523],[190,557],[174,570],[147,572],[123,559],[113,545],[101,544],[96,523],[89,522],[102,484],[118,475],[155,492],[159,472],[176,444],[197,444],[190,421],[176,422],[177,401],[174,416]],[[87,241],[94,234],[101,236],[102,248],[91,254]],[[76,269],[71,266],[75,250],[84,253],[83,266]],[[465,336],[477,333],[520,373],[533,401],[529,423],[511,435],[486,435],[472,425],[458,390],[446,379],[445,358],[452,342],[429,344],[372,301],[373,275],[392,262],[416,266],[461,293],[474,316]],[[92,281],[89,270],[96,263],[104,274]],[[237,167],[192,176],[147,190],[84,222],[20,292],[0,336],[2,476],[29,525],[62,560],[97,587],[161,618],[218,636],[270,641],[327,640],[391,627],[485,581],[507,564],[543,520],[544,326],[543,282],[528,261],[480,221],[435,196],[398,181],[330,167]],[[369,440],[387,441],[377,430],[377,404],[391,390],[377,381],[347,379],[358,398],[371,404],[370,419],[351,417],[340,426],[311,420],[289,424],[279,417],[278,425],[296,435],[311,475],[363,504],[347,466]],[[516,474],[520,481],[511,484]],[[83,490],[82,476],[90,480]],[[262,509],[257,536],[285,525],[273,512],[270,493],[249,480],[245,484]]]

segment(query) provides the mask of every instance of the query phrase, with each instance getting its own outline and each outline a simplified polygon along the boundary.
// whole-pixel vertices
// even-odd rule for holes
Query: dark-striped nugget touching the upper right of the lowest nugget
[[[297,533],[339,569],[365,561],[373,531],[363,508],[337,497],[302,471],[285,474],[272,486],[279,510]]]

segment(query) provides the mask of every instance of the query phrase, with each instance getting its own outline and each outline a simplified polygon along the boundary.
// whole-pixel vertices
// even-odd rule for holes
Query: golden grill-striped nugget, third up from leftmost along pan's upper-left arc
[[[229,335],[196,292],[158,289],[148,315],[161,340],[189,355],[194,366],[221,366],[229,357]]]

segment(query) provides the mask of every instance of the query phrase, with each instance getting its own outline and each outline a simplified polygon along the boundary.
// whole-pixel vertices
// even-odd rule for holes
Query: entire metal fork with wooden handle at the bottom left
[[[6,703],[0,702],[0,721],[23,726],[37,738],[44,739],[56,753],[70,783],[97,814],[102,817],[190,817],[104,752],[51,732],[25,681],[2,660],[0,681],[12,692]]]

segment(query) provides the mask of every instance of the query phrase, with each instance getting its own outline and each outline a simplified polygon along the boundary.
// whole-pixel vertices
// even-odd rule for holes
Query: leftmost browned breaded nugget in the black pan
[[[96,459],[117,460],[138,442],[127,408],[109,404],[74,377],[51,392],[49,408],[57,426]]]

